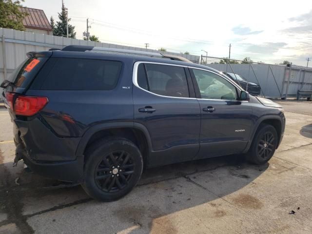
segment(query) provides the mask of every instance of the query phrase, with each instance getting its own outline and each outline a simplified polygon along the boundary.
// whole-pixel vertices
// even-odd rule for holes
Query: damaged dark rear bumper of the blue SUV
[[[59,137],[38,117],[13,119],[17,162],[23,159],[35,173],[54,179],[81,182],[83,157],[76,156],[80,137]]]

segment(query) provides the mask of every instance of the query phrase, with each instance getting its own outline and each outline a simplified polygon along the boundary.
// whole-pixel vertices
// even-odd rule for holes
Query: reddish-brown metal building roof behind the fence
[[[43,10],[20,7],[20,11],[28,13],[28,16],[26,16],[23,20],[25,28],[36,28],[52,31],[52,27]]]

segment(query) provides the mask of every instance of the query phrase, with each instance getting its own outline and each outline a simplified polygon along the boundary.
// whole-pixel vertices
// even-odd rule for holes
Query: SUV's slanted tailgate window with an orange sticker
[[[8,80],[13,82],[16,87],[27,87],[46,60],[46,57],[35,57],[24,60]]]

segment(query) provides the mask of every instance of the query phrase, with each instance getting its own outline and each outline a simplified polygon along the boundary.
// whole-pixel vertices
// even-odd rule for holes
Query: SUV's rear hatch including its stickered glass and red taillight
[[[13,119],[16,116],[33,116],[48,102],[45,97],[25,96],[24,94],[51,55],[51,51],[27,53],[28,58],[1,83],[2,99]]]

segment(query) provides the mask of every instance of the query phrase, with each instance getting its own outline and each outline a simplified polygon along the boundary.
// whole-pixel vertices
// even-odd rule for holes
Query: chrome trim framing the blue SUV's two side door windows
[[[176,67],[184,67],[184,68],[191,68],[191,69],[198,69],[198,70],[203,70],[203,71],[206,71],[206,72],[211,72],[211,73],[214,73],[215,75],[218,75],[219,77],[223,78],[223,79],[226,79],[228,80],[231,84],[233,84],[236,88],[238,88],[239,90],[242,91],[242,89],[232,80],[228,79],[228,78],[224,78],[222,76],[220,76],[220,74],[217,74],[216,72],[213,72],[213,71],[210,71],[210,70],[207,70],[207,69],[203,69],[203,68],[198,68],[198,67],[192,67],[192,66],[186,66],[186,65],[178,65],[178,64],[170,64],[170,63],[162,63],[162,62],[149,62],[149,61],[137,61],[134,63],[134,66],[133,66],[133,73],[132,73],[132,82],[133,84],[147,92],[147,93],[150,93],[150,94],[153,94],[155,96],[158,96],[158,97],[162,97],[162,98],[179,98],[179,97],[171,97],[171,96],[164,96],[164,95],[159,95],[159,94],[155,94],[153,92],[150,92],[146,89],[143,89],[141,88],[138,83],[137,83],[137,68],[138,68],[138,65],[141,64],[141,63],[149,63],[149,64],[158,64],[158,65],[167,65],[167,66],[176,66]],[[180,99],[196,99],[196,100],[210,100],[210,101],[233,101],[231,99],[206,99],[206,98],[180,98]],[[248,101],[241,101],[241,102],[248,102]]]

